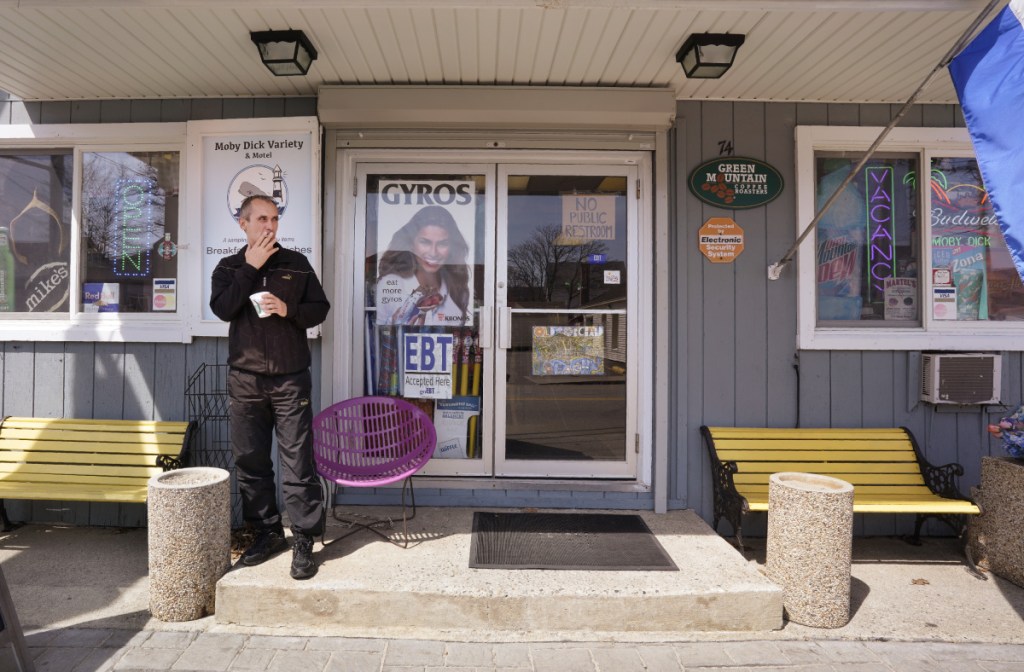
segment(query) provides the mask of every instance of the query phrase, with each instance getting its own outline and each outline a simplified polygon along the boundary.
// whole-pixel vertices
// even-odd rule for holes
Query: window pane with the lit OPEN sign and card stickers
[[[177,309],[177,152],[82,157],[84,312]]]

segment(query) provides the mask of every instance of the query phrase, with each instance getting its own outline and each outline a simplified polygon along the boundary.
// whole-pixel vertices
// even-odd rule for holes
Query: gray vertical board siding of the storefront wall
[[[919,352],[797,351],[797,287],[793,268],[769,282],[767,266],[796,237],[794,129],[797,125],[884,126],[896,106],[681,101],[674,133],[673,246],[669,268],[674,311],[670,420],[670,506],[711,518],[710,467],[701,424],[766,426],[906,425],[934,463],[961,462],[967,491],[980,478],[982,455],[1000,449],[985,425],[998,411],[936,410],[916,401]],[[312,116],[314,98],[101,100],[29,102],[0,99],[0,124],[180,122],[196,119]],[[914,108],[904,126],[962,126],[954,106]],[[783,194],[762,208],[720,210],[687,188],[689,171],[719,156],[730,141],[736,156],[764,160],[785,180]],[[731,216],[744,230],[734,263],[712,264],[696,245],[712,216]],[[314,376],[322,354],[314,345]],[[223,339],[183,344],[0,342],[2,415],[180,420],[185,384],[203,364],[226,359]],[[1005,356],[1004,398],[1024,397],[1020,352]],[[318,383],[314,384],[318,393]],[[314,404],[321,406],[321,400]],[[346,501],[379,503],[391,492],[357,493]],[[651,508],[650,494],[494,491],[422,488],[421,503],[452,506],[574,506]],[[15,519],[144,524],[141,505],[8,502]],[[858,520],[858,534],[905,532],[894,516]],[[727,526],[723,523],[723,532]],[[936,528],[936,532],[942,532]],[[752,530],[756,532],[756,528]]]

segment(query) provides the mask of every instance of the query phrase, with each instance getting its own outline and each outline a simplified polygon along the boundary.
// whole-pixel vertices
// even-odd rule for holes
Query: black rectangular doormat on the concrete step
[[[469,566],[678,572],[639,515],[475,511]]]

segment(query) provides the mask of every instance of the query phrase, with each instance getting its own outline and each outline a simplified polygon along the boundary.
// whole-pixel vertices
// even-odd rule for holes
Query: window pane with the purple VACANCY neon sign
[[[816,159],[820,209],[859,157]],[[876,156],[818,223],[818,324],[919,323],[915,157]]]

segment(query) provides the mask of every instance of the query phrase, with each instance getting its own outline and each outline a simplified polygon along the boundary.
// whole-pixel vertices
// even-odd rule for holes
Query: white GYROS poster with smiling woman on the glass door
[[[383,180],[377,196],[377,324],[473,324],[473,181]]]

